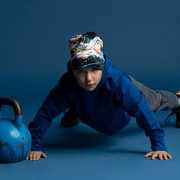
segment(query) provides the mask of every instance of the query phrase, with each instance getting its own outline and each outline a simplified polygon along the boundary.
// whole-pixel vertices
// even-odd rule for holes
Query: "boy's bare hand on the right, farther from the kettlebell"
[[[152,151],[147,153],[144,157],[151,157],[152,160],[154,160],[155,158],[159,158],[159,160],[167,160],[168,158],[172,159],[171,155],[168,154],[166,151]]]

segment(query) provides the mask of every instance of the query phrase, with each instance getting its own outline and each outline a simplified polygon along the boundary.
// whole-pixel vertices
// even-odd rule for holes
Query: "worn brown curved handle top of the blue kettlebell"
[[[14,113],[17,116],[22,115],[22,108],[16,99],[10,97],[0,97],[0,111],[3,104],[10,105],[14,109]]]

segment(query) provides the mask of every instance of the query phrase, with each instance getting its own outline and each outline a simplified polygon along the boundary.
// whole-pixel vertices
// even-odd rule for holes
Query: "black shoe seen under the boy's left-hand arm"
[[[68,112],[64,112],[65,115],[61,119],[61,126],[62,127],[74,127],[77,126],[79,123],[79,118],[76,117],[73,110],[70,108]]]

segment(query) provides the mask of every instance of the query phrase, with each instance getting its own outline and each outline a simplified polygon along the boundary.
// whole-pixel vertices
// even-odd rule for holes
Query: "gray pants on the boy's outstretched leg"
[[[132,83],[143,93],[153,112],[168,110],[178,106],[178,97],[175,94],[162,90],[152,90],[142,83],[137,82],[131,76],[129,77]]]

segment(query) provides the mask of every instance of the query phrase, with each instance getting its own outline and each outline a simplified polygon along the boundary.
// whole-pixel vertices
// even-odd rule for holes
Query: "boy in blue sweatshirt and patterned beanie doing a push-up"
[[[52,119],[68,108],[61,121],[62,126],[75,126],[80,119],[108,135],[127,126],[131,116],[136,117],[138,126],[145,130],[152,145],[152,152],[144,157],[171,159],[167,153],[164,131],[153,111],[173,109],[172,114],[176,114],[176,125],[179,126],[178,96],[166,91],[153,91],[114,67],[103,54],[103,41],[96,33],[72,37],[69,47],[71,60],[68,62],[68,72],[51,90],[34,121],[29,124],[32,149],[26,159],[46,158],[41,150],[41,140]],[[72,116],[70,119],[69,115]]]

